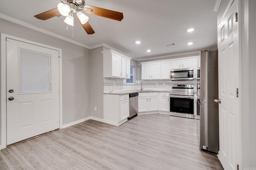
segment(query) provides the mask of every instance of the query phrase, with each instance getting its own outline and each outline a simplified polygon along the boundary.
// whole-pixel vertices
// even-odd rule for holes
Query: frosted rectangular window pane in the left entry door
[[[50,92],[51,56],[20,50],[20,92]]]

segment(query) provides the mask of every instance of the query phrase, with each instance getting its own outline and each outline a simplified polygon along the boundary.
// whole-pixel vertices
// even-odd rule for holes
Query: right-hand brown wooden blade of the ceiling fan
[[[98,8],[98,7],[90,6],[90,5],[86,5],[85,8],[92,9],[92,12],[85,10],[85,12],[87,12],[88,14],[93,14],[96,16],[110,18],[112,20],[117,20],[117,21],[121,21],[124,18],[123,13],[121,13],[121,12],[106,10],[103,8]]]

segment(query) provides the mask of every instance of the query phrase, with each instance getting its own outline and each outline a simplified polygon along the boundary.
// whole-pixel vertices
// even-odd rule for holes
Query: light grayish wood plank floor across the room
[[[88,120],[0,150],[1,170],[222,170],[200,151],[196,120],[140,115],[116,127]]]

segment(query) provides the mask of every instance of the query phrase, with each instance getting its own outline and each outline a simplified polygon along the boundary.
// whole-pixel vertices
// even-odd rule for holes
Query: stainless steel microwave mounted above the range
[[[171,80],[193,80],[193,68],[178,68],[171,70]]]

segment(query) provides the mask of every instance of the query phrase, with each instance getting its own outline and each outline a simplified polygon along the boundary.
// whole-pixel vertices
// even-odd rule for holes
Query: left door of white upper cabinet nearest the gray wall
[[[112,53],[111,56],[111,76],[121,77],[121,56]]]

